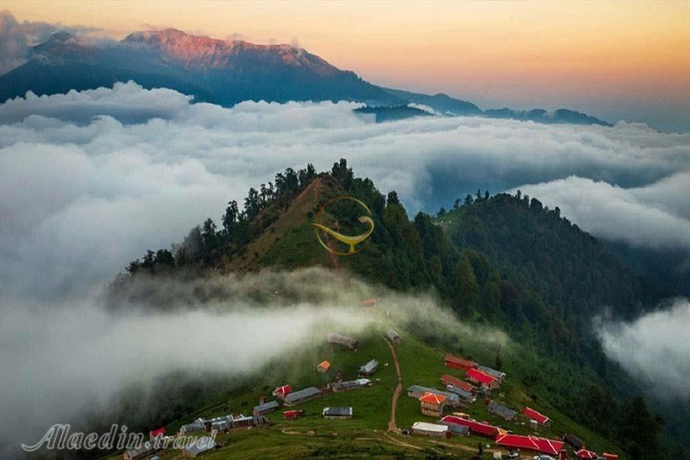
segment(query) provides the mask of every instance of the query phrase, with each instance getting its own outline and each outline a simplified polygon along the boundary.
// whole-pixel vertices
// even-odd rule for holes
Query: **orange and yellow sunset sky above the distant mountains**
[[[294,42],[374,83],[484,108],[560,106],[690,129],[690,2],[130,2],[5,0],[19,21],[121,38],[175,27]],[[237,37],[237,35],[235,35]]]

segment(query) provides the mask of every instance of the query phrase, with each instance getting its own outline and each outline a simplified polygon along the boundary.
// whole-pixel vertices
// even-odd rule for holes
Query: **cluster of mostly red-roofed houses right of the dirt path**
[[[447,354],[444,357],[446,367],[463,370],[466,373],[466,380],[444,374],[441,383],[445,386],[443,390],[413,385],[407,390],[410,397],[419,399],[422,414],[428,417],[435,417],[435,423],[418,421],[412,426],[412,433],[421,436],[431,437],[451,437],[452,435],[467,436],[475,434],[481,437],[493,439],[497,446],[509,450],[526,450],[538,454],[558,456],[566,458],[564,445],[569,443],[575,448],[575,455],[578,460],[604,459],[618,460],[615,454],[604,453],[603,457],[587,450],[584,443],[577,437],[570,434],[564,435],[563,439],[547,439],[539,436],[513,434],[500,427],[492,426],[489,423],[471,419],[467,414],[453,412],[452,415],[444,415],[447,407],[468,406],[477,399],[477,394],[484,394],[486,408],[492,414],[501,417],[506,421],[515,421],[518,415],[529,421],[530,427],[537,431],[540,427],[549,428],[551,419],[546,415],[525,407],[522,412],[517,412],[504,404],[493,401],[489,398],[491,390],[500,388],[506,379],[506,374],[500,370],[495,370],[487,366],[482,366],[475,361],[456,357]],[[536,457],[535,457],[536,458]]]

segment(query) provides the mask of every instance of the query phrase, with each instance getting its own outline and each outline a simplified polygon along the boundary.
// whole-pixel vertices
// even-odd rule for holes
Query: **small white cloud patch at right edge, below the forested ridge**
[[[690,399],[690,301],[676,299],[669,308],[631,323],[602,321],[597,330],[610,359],[655,388],[655,397]]]

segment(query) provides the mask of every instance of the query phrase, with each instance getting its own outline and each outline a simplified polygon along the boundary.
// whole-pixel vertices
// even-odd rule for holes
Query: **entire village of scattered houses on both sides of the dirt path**
[[[451,446],[446,443],[460,440],[461,443],[457,446],[468,456],[474,452],[479,456],[476,458],[618,460],[617,454],[589,450],[586,441],[574,434],[562,432],[558,437],[553,437],[555,427],[547,414],[529,406],[511,407],[503,401],[502,386],[509,378],[504,372],[472,359],[446,354],[443,357],[446,373],[435,377],[440,383],[440,388],[413,384],[403,390],[401,368],[395,350],[403,342],[403,337],[396,330],[390,329],[380,337],[381,339],[390,349],[397,374],[397,387],[393,391],[389,406],[391,419],[388,431],[385,432],[385,436],[391,442],[414,448],[411,443],[402,440],[429,439],[438,446]],[[327,334],[324,341],[342,352],[358,352],[359,341],[338,332]],[[267,394],[260,396],[251,408],[250,414],[218,414],[210,418],[197,418],[180,426],[174,434],[166,433],[166,428],[155,428],[150,430],[150,439],[139,448],[124,452],[124,460],[157,460],[163,453],[164,441],[167,440],[167,445],[170,446],[176,437],[190,437],[195,434],[197,436],[192,438],[193,442],[180,447],[181,456],[199,457],[232,444],[234,433],[257,430],[255,436],[262,436],[261,430],[273,429],[275,418],[289,427],[290,423],[299,419],[317,417],[325,423],[332,423],[335,430],[340,426],[339,423],[342,423],[339,421],[357,419],[359,414],[353,407],[354,403],[337,406],[323,403],[317,413],[309,412],[300,406],[322,398],[328,400],[331,395],[342,393],[351,394],[348,398],[356,401],[357,392],[381,385],[380,379],[376,377],[377,371],[381,366],[389,367],[388,362],[382,361],[383,358],[367,356],[366,359],[362,359],[356,374],[350,375],[335,370],[334,363],[323,359],[315,363],[311,372],[314,376],[321,375],[322,382],[325,377],[326,383],[294,388],[289,382],[283,382],[270,391],[270,395],[267,391]],[[404,397],[403,391],[408,398],[417,401],[418,420],[411,423],[411,426],[398,427],[396,406],[399,396]],[[490,423],[471,417],[469,412],[482,407],[486,414],[491,414],[501,423]],[[316,428],[312,433],[315,430]],[[289,428],[284,428],[282,432],[293,433]],[[544,432],[549,432],[552,436],[549,437]],[[224,441],[217,440],[219,434],[226,435]],[[486,455],[489,457],[485,457]]]

